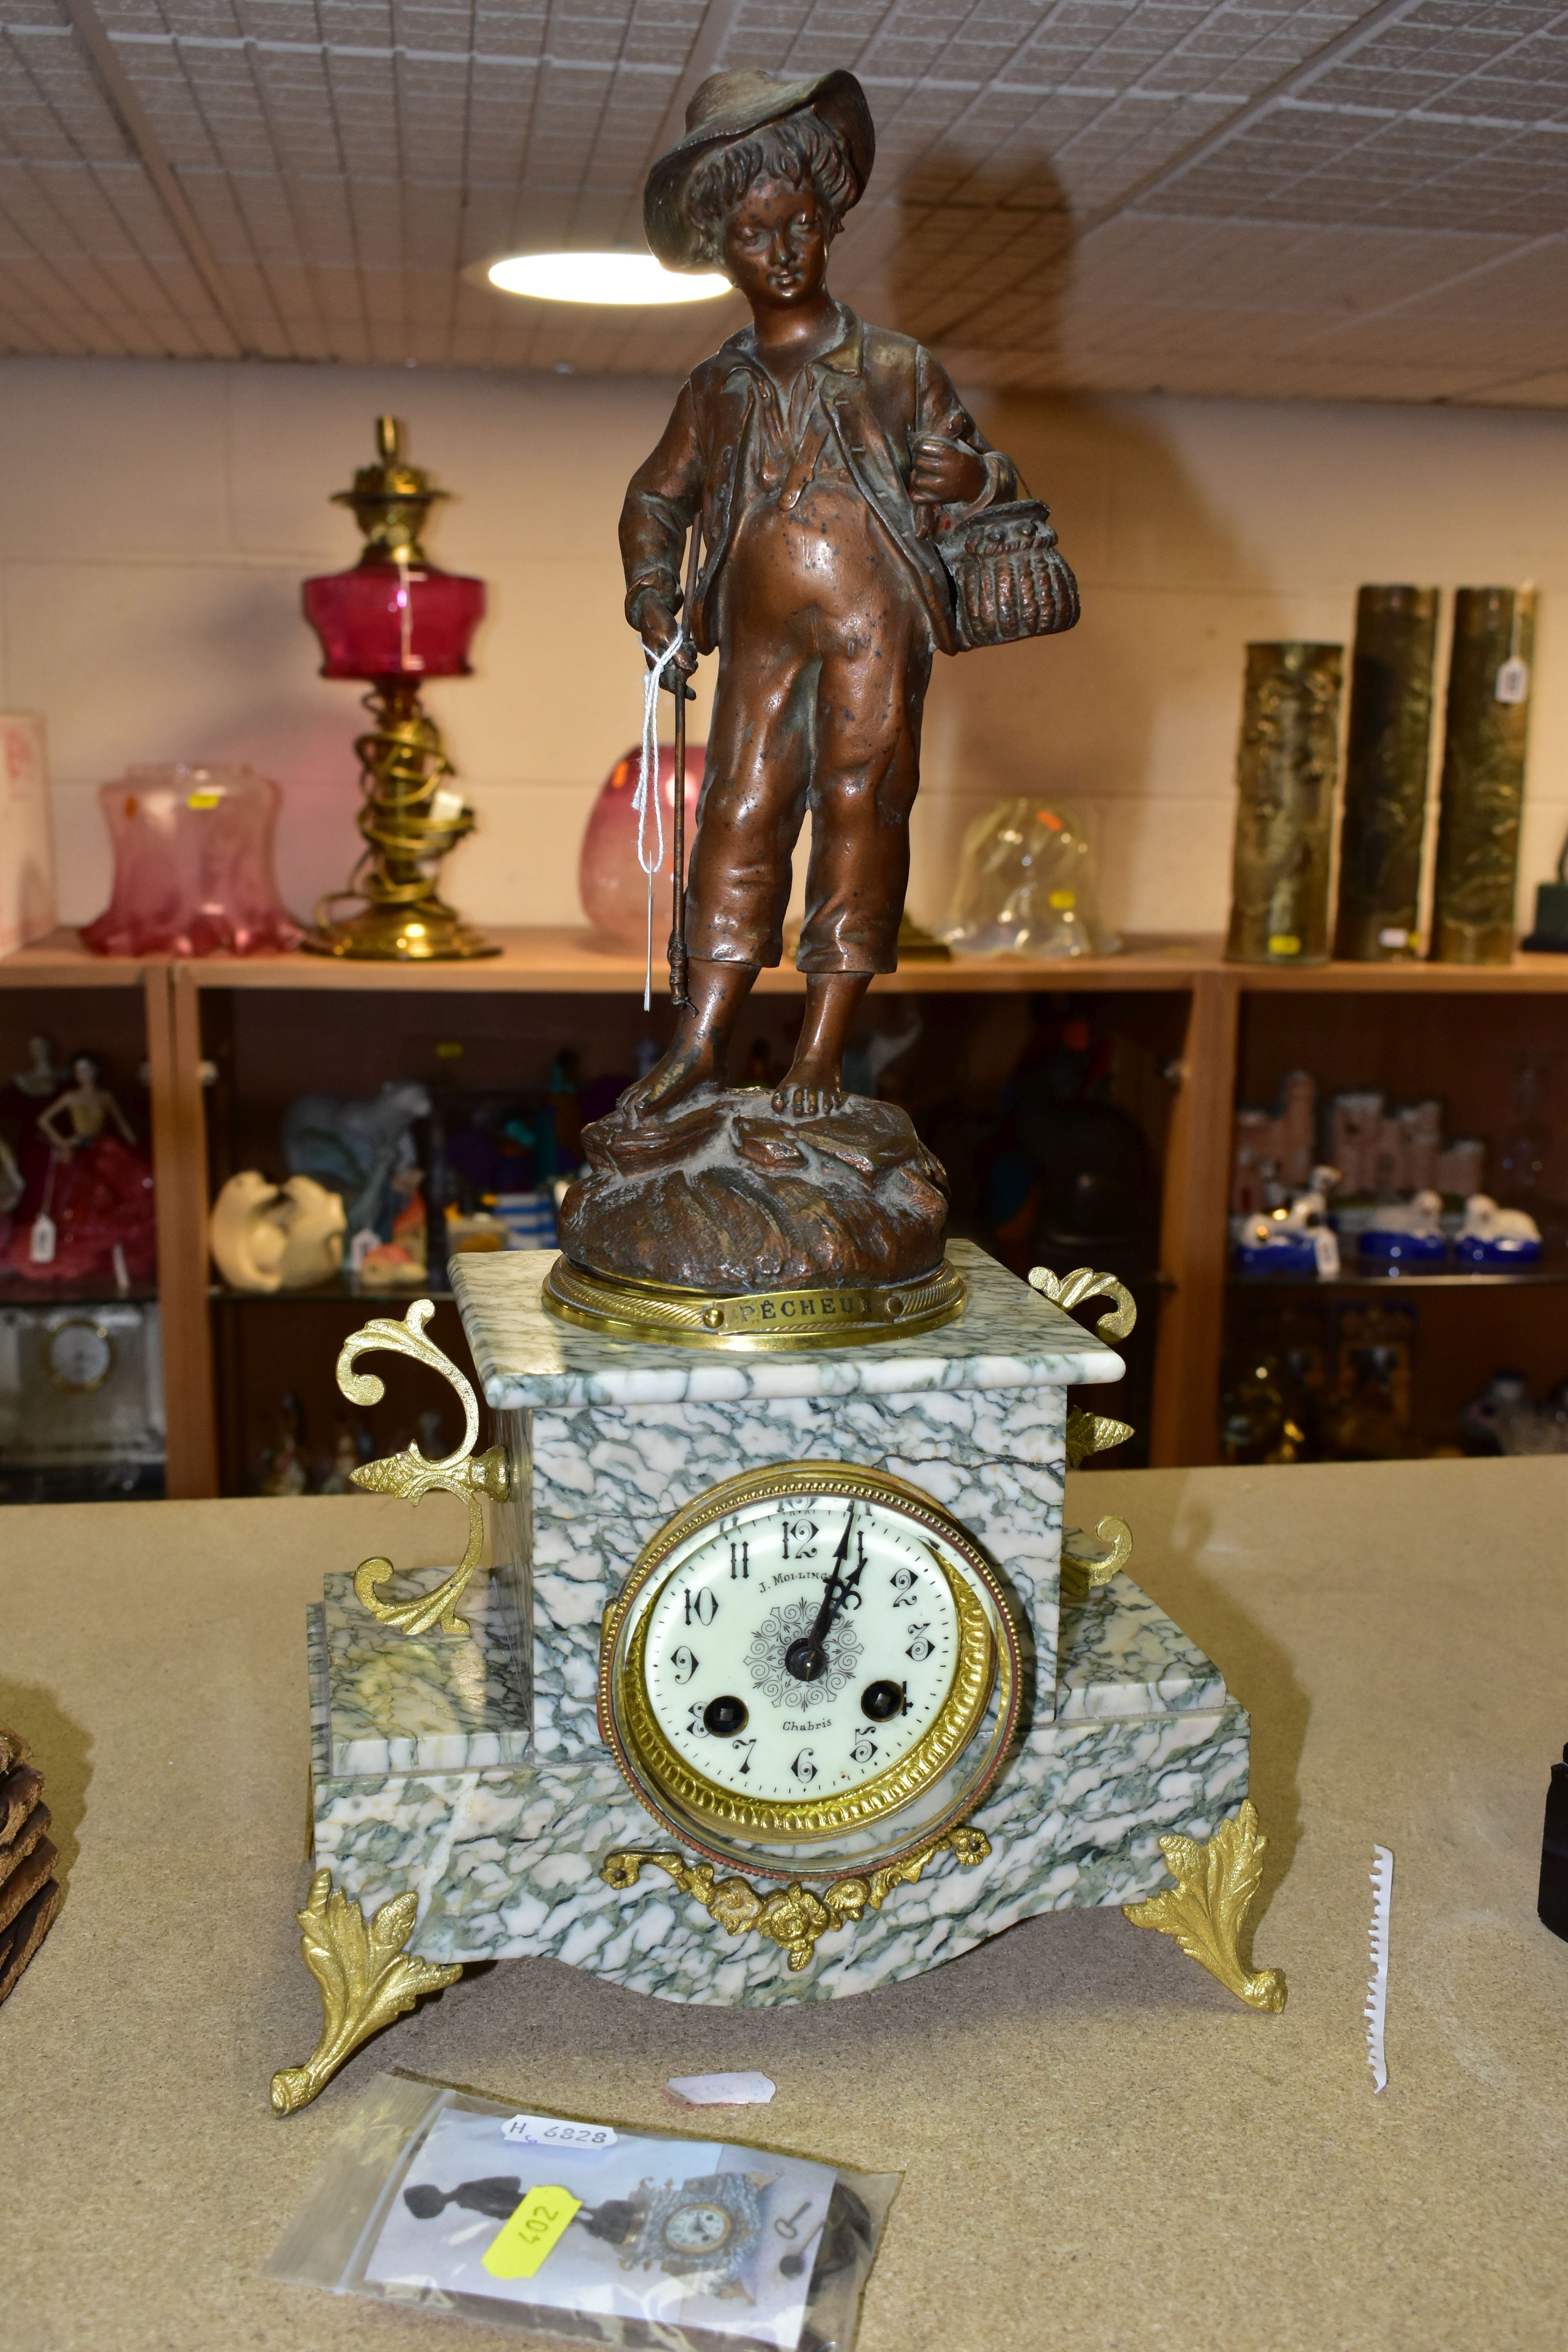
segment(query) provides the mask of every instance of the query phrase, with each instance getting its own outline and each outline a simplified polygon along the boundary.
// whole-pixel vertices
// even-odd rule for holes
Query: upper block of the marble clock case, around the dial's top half
[[[766,1357],[574,1331],[538,1298],[552,1251],[454,1263],[522,1505],[501,1569],[534,1621],[541,1759],[597,1745],[599,1621],[644,1543],[708,1486],[780,1461],[891,1470],[952,1510],[1056,1679],[1067,1385],[1119,1381],[1121,1357],[971,1242],[947,1254],[969,1305],[943,1331]]]

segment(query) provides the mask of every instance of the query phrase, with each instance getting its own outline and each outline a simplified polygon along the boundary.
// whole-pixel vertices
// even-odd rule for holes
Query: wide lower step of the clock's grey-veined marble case
[[[367,1630],[348,1576],[310,1611],[315,1863],[367,1912],[414,1891],[409,1952],[428,1962],[562,1959],[668,2002],[839,1999],[1037,1912],[1135,1903],[1168,1884],[1161,1835],[1204,1842],[1246,1797],[1246,1712],[1117,1576],[1063,1604],[1053,1705],[1037,1693],[973,1816],[987,1860],[940,1856],[795,1973],[776,1943],[726,1936],[658,1872],[625,1891],[599,1879],[611,1851],[668,1839],[607,1755],[498,1762],[527,1726],[508,1698],[505,1613],[477,1585],[470,1604],[473,1637],[430,1644]]]

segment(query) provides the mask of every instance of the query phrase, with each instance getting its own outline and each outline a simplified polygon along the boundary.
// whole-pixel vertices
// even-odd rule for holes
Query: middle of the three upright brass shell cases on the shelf
[[[1436,600],[1436,588],[1363,588],[1356,597],[1333,931],[1333,953],[1352,964],[1415,955]],[[1385,943],[1394,931],[1403,941]]]

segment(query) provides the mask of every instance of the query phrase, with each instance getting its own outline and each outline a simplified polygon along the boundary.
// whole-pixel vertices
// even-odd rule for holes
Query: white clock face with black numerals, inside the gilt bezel
[[[642,1656],[658,1729],[708,1780],[825,1797],[875,1780],[931,1731],[959,1606],[938,1548],[903,1515],[785,1496],[703,1531],[649,1611]]]

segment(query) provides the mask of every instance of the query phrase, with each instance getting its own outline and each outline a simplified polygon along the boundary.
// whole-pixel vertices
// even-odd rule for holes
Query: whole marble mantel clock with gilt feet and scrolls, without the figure
[[[280,2112],[480,1959],[823,2002],[1114,1903],[1284,2004],[1239,1952],[1248,1717],[1126,1576],[1121,1522],[1063,1550],[1065,1470],[1128,1435],[1067,1390],[1121,1376],[1133,1303],[947,1258],[961,1319],[783,1352],[616,1343],[545,1312],[550,1254],[458,1258],[487,1454],[428,1303],[346,1343],[357,1402],[376,1350],[458,1390],[454,1456],[360,1484],[458,1491],[470,1543],[449,1573],[331,1573],[310,1611],[327,2016]],[[1067,1312],[1091,1298],[1095,1334]]]

